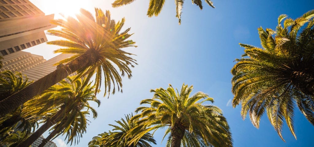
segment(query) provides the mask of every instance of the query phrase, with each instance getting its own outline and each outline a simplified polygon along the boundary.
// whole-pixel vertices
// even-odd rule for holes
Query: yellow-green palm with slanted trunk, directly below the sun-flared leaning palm
[[[45,123],[18,147],[28,147],[53,125],[52,133],[40,146],[44,146],[50,139],[60,134],[66,135],[68,143],[79,142],[79,138],[86,132],[88,124],[86,117],[89,112],[92,112],[93,118],[97,117],[97,112],[89,105],[89,101],[96,102],[98,106],[100,101],[94,94],[95,85],[92,86],[91,82],[87,83],[86,79],[83,81],[81,79],[73,81],[73,79],[74,77],[68,77],[68,81],[60,81],[60,85],[50,87],[41,96],[31,100],[30,105],[41,107],[39,112],[54,109],[55,113],[43,118]]]

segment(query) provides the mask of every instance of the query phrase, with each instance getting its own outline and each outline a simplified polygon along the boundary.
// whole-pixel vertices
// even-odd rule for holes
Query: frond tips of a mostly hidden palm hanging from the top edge
[[[115,0],[111,5],[112,7],[121,7],[129,3],[134,2],[135,0]],[[205,0],[205,2],[212,8],[215,8],[211,0]],[[179,24],[181,24],[181,14],[183,8],[184,0],[175,0],[176,4],[176,18],[179,19]],[[165,0],[149,0],[149,7],[147,10],[148,17],[153,15],[158,16],[161,12],[162,7],[165,4]],[[196,4],[201,10],[203,9],[202,0],[192,0],[192,4]]]

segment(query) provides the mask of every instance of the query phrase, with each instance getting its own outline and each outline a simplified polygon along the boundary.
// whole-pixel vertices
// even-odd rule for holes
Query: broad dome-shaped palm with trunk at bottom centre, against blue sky
[[[151,90],[154,97],[140,103],[149,104],[150,107],[137,108],[135,112],[141,113],[131,119],[139,119],[139,125],[130,133],[136,134],[132,141],[137,141],[144,133],[167,126],[165,134],[170,133],[171,147],[180,147],[181,144],[187,146],[184,143],[189,137],[202,141],[206,146],[232,146],[229,125],[221,109],[202,104],[206,101],[214,102],[214,99],[203,92],[189,97],[192,89],[193,86],[183,84],[180,93],[171,85],[167,89]],[[138,132],[139,128],[147,129]]]

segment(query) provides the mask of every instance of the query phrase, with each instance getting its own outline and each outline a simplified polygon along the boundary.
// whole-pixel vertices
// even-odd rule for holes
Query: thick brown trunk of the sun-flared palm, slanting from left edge
[[[62,66],[50,74],[42,77],[41,79],[30,84],[28,87],[14,93],[10,97],[0,101],[0,117],[12,112],[14,109],[18,108],[24,102],[32,99],[33,97],[39,95],[44,90],[57,84],[62,79],[66,78],[71,73],[96,62],[97,56],[91,51],[87,51],[85,54],[75,58],[65,66]]]

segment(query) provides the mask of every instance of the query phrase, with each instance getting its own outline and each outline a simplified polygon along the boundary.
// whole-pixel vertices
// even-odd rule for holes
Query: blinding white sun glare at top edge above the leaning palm
[[[51,1],[46,1],[46,7],[43,11],[46,14],[54,13],[55,18],[60,17],[58,14],[62,14],[65,17],[72,16],[79,13],[80,8],[87,9],[89,8],[89,1],[87,0],[54,0],[53,3]]]

